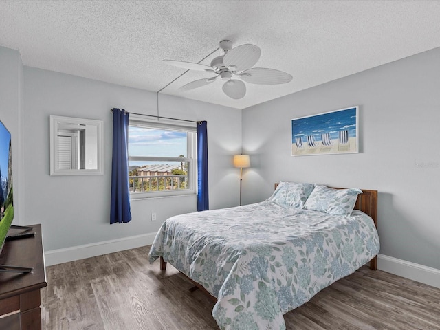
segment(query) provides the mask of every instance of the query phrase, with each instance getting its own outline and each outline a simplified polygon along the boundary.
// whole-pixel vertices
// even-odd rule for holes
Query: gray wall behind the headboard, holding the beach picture
[[[378,190],[380,253],[440,269],[439,59],[437,48],[243,110],[243,201],[280,180]],[[360,153],[290,155],[292,118],[353,105]]]

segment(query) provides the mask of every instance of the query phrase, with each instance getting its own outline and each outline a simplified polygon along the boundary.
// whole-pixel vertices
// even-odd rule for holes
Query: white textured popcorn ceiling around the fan
[[[0,45],[24,65],[159,91],[230,39],[261,47],[255,67],[292,74],[233,100],[212,74],[188,72],[161,93],[243,109],[440,46],[440,1],[0,1]],[[221,55],[218,50],[202,64]],[[439,59],[440,61],[440,59]],[[1,73],[0,73],[1,74]]]

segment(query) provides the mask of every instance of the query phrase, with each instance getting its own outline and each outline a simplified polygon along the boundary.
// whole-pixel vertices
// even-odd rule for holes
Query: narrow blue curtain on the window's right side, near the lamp
[[[197,211],[209,210],[207,122],[197,123]]]

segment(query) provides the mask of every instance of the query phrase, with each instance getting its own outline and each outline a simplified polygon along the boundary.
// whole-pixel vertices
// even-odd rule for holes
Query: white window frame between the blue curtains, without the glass
[[[159,129],[164,131],[181,131],[187,133],[186,157],[155,157],[155,156],[131,156],[129,162],[188,162],[188,189],[155,190],[144,192],[130,192],[130,199],[149,199],[157,197],[176,197],[197,194],[197,123],[176,123],[170,120],[152,120],[140,115],[130,115],[129,126],[144,127],[146,129]],[[128,151],[129,153],[129,151]]]

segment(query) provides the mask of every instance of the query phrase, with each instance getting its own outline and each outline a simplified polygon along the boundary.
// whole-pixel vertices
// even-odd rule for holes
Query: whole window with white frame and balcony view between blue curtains
[[[131,199],[195,194],[194,124],[129,122],[129,190]]]

